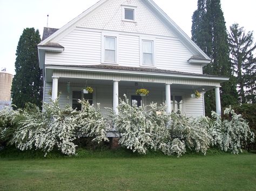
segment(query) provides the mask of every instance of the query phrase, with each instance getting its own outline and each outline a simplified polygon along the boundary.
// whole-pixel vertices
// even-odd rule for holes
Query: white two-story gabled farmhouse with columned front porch
[[[131,104],[167,104],[167,112],[204,115],[204,92],[227,77],[203,75],[211,59],[152,0],[101,0],[61,29],[44,29],[38,45],[44,102],[81,109],[78,99],[113,107],[124,94]],[[83,87],[93,88],[83,94]],[[136,95],[146,88],[148,96]],[[51,94],[49,91],[51,90]],[[194,90],[200,98],[192,98]],[[51,95],[51,97],[50,97]]]

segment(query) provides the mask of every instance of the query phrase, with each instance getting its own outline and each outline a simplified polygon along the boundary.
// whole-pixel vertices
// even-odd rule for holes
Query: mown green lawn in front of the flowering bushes
[[[256,190],[256,154],[2,158],[0,190]]]

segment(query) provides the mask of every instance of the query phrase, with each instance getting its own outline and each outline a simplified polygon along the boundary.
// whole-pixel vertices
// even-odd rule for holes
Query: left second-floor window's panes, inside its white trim
[[[105,37],[104,61],[116,63],[116,37]]]

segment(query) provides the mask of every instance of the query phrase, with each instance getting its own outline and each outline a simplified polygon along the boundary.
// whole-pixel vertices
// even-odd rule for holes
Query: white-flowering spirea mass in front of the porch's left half
[[[73,155],[76,146],[73,141],[81,136],[93,137],[98,143],[108,140],[105,121],[99,109],[95,110],[86,101],[80,101],[82,111],[69,106],[60,108],[58,101],[44,104],[44,112],[30,104],[22,111],[23,119],[11,140],[20,150],[42,150],[45,155],[57,148],[63,154]]]

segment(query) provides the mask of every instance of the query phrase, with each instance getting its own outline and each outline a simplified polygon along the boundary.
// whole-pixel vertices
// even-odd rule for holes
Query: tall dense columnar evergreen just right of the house
[[[230,77],[220,88],[221,107],[237,103],[235,79],[232,76],[229,60],[228,38],[220,0],[198,0],[198,9],[192,16],[192,40],[212,58],[212,62],[203,68],[204,74]],[[205,112],[207,116],[215,110],[214,91],[205,94]]]

